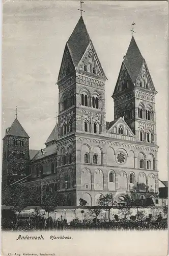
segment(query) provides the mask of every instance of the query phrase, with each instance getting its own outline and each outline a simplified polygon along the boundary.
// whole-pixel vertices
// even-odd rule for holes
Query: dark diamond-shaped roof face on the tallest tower
[[[90,36],[81,16],[67,41],[67,46],[75,67],[77,67],[80,59],[82,58],[88,45],[90,44],[90,41]]]

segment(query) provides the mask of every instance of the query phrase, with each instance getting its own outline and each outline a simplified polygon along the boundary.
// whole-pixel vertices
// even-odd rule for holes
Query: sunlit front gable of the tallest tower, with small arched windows
[[[96,74],[101,77],[105,77],[103,68],[94,49],[92,42],[90,42],[85,53],[83,54],[79,64],[77,66],[77,71],[86,71],[88,73]]]

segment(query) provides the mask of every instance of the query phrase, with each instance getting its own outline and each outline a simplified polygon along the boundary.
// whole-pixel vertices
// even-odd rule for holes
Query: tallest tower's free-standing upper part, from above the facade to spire
[[[59,137],[104,133],[106,76],[82,16],[69,37],[58,77]]]

